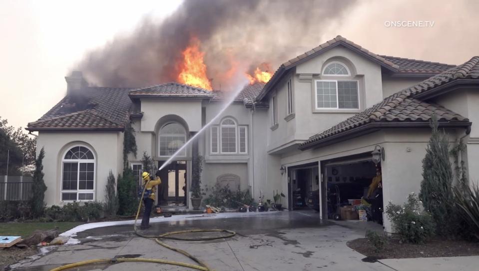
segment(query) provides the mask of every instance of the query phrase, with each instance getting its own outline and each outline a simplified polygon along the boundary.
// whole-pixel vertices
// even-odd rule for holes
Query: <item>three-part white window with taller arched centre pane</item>
[[[211,126],[211,153],[247,153],[247,127],[238,125],[231,118],[225,118],[220,125]]]

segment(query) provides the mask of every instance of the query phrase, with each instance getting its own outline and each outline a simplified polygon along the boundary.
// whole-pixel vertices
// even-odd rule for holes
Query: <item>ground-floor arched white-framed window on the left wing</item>
[[[74,146],[62,159],[61,200],[92,201],[95,199],[95,165],[93,152],[85,146]]]

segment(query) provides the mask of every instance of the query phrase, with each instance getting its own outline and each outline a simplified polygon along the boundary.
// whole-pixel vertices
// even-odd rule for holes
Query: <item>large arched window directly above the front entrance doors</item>
[[[171,156],[186,142],[185,128],[176,122],[170,122],[160,128],[158,135],[158,153],[159,156]],[[179,156],[186,156],[186,150],[183,149]]]

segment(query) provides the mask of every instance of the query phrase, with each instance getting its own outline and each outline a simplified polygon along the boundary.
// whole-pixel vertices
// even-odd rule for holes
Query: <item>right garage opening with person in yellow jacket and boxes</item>
[[[376,166],[370,154],[323,165],[323,212],[328,219],[374,221],[382,225],[381,165]]]

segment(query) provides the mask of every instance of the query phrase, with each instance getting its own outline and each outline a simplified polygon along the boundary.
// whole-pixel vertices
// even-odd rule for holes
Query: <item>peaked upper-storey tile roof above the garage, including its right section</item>
[[[414,73],[419,74],[423,73],[424,76],[431,76],[437,74],[439,72],[445,71],[454,65],[448,65],[443,63],[437,62],[428,62],[422,60],[415,60],[415,59],[408,59],[408,58],[400,58],[394,56],[386,56],[386,55],[378,55],[375,54],[360,45],[338,35],[335,38],[328,40],[317,47],[292,58],[279,66],[279,68],[275,71],[271,79],[266,83],[263,91],[258,95],[258,100],[261,100],[266,93],[278,82],[282,75],[288,71],[289,69],[329,50],[336,46],[344,46],[349,48],[360,55],[372,60],[380,64],[386,70],[389,70],[392,73],[398,74],[406,74],[406,73]]]

